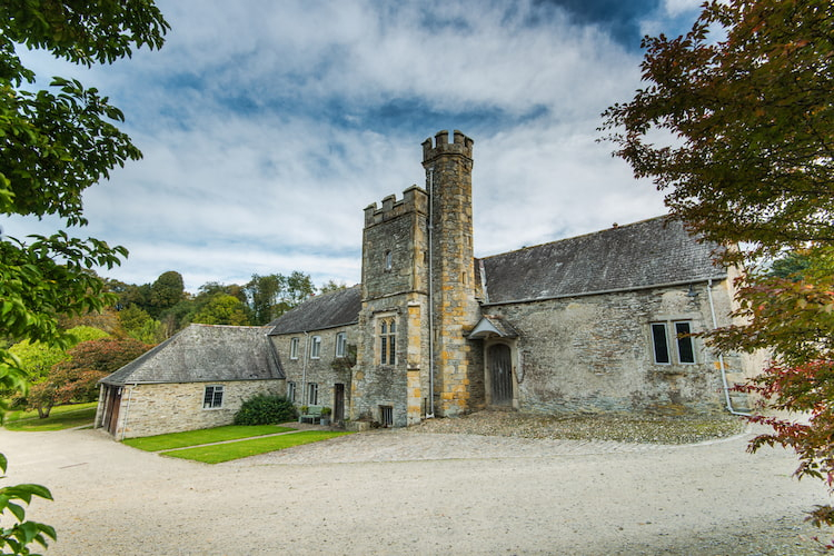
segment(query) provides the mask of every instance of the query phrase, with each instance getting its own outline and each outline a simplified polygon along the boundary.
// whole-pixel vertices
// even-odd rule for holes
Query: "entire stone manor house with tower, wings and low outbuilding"
[[[423,143],[424,187],[365,208],[361,284],[267,327],[192,325],[101,381],[117,437],[230,423],[256,391],[336,423],[528,413],[734,410],[757,361],[693,334],[729,324],[733,269],[653,218],[485,258],[473,254],[473,140]]]

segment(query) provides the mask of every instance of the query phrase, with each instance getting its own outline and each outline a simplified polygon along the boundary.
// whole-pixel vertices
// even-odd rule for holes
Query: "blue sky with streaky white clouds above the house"
[[[76,235],[130,250],[103,275],[351,285],[363,209],[425,185],[420,143],[441,129],[475,140],[476,256],[663,214],[596,128],[641,86],[641,37],[685,32],[699,1],[158,0],[160,51],[91,70],[23,58],[98,87],[145,153],[85,197]]]

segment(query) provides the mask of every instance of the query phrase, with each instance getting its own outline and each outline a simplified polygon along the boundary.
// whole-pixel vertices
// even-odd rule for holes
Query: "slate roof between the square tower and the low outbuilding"
[[[361,307],[361,286],[311,297],[269,322],[268,326],[272,327],[269,336],[354,325],[359,321]]]

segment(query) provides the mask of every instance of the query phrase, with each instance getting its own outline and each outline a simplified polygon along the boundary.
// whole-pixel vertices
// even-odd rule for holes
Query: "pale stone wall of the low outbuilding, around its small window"
[[[222,407],[203,409],[207,386],[222,386]],[[284,380],[126,385],[116,438],[231,425],[244,401],[256,394],[284,395]]]

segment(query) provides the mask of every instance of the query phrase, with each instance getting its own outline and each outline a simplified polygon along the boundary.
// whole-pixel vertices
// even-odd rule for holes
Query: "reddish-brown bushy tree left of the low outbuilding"
[[[100,379],[150,348],[133,338],[82,341],[67,353],[67,359],[53,365],[43,380],[32,385],[27,397],[29,407],[46,418],[56,405],[95,401]]]

